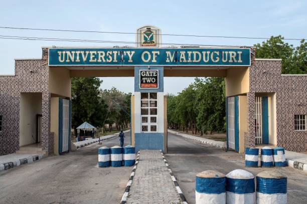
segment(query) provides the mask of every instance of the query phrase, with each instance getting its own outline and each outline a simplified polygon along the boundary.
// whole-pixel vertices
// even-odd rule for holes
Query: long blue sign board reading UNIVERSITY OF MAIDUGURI
[[[250,66],[250,48],[49,48],[49,66]]]

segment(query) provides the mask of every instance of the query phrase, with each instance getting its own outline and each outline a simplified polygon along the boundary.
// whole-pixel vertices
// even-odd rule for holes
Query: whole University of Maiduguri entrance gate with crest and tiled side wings
[[[22,125],[29,120],[23,112],[37,105],[39,110],[30,108],[29,114],[42,115],[42,149],[55,154],[70,149],[71,77],[88,76],[134,76],[131,144],[136,149],[167,151],[164,77],[219,76],[226,83],[228,148],[243,152],[245,146],[269,143],[307,150],[306,132],[292,125],[294,115],[305,114],[306,76],[282,75],[281,61],[255,59],[254,47],[162,47],[161,36],[159,28],[143,26],[137,29],[136,47],[43,47],[41,59],[16,59],[16,75],[0,76],[1,84],[13,87],[1,86],[2,133],[7,135],[1,154],[31,142],[24,139],[31,132]],[[293,81],[296,88],[287,91]],[[25,93],[40,93],[41,103]],[[293,98],[290,105],[287,98]]]

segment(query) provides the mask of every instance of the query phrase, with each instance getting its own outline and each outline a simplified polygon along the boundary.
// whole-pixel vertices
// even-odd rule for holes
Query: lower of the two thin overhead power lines
[[[94,42],[94,43],[120,43],[120,44],[137,44],[133,41],[113,41],[113,40],[93,40],[93,39],[71,39],[71,38],[50,38],[50,37],[29,37],[29,36],[12,36],[0,35],[1,39],[22,39],[22,40],[41,40],[41,41],[65,41],[65,42]],[[141,44],[141,42],[139,42]],[[238,47],[237,45],[214,45],[214,44],[189,44],[189,43],[157,43],[161,45],[183,45],[183,46],[212,46],[212,47]],[[276,47],[291,48],[295,47]]]

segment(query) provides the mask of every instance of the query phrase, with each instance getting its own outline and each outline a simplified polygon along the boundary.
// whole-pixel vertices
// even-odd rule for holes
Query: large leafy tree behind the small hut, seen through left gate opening
[[[99,97],[102,80],[98,77],[72,78],[72,126],[76,128],[84,121],[102,126],[106,114],[106,103]]]

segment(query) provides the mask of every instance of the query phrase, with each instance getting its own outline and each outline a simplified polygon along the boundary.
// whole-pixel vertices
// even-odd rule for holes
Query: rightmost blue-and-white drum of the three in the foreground
[[[256,175],[257,204],[287,203],[287,177],[277,171],[262,171]]]

